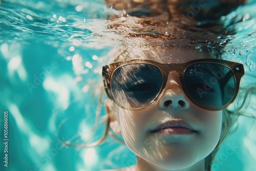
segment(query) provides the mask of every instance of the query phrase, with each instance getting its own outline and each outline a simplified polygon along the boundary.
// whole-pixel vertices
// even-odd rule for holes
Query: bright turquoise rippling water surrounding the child
[[[228,29],[237,30],[223,57],[244,63],[243,88],[256,85],[255,7],[255,1],[250,1],[221,18]],[[106,31],[104,18],[109,10],[103,1],[1,1],[3,161],[4,111],[8,111],[9,141],[8,167],[1,161],[0,170],[88,171],[135,164],[129,149],[110,137],[94,148],[64,146],[58,141],[90,143],[102,135],[103,108],[97,130],[93,134],[91,130],[102,86],[100,69],[108,63],[113,40],[118,40]],[[255,114],[253,104],[252,99],[244,113]],[[213,170],[255,170],[255,134],[252,120],[240,118],[237,132],[217,154]]]

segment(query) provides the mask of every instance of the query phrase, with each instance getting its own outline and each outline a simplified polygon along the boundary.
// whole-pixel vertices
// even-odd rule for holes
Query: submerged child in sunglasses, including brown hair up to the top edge
[[[127,39],[102,68],[105,136],[111,127],[137,156],[136,165],[120,170],[210,170],[239,116],[227,107],[244,75],[242,64],[220,59],[220,37],[232,33],[214,23],[223,13],[207,11],[204,1],[108,2],[123,10],[119,23],[110,17],[109,29]]]

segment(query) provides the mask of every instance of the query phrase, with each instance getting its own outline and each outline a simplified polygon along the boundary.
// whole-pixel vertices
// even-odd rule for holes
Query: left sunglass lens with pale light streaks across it
[[[133,63],[116,69],[112,92],[124,108],[140,108],[155,99],[162,86],[160,70],[149,64]]]

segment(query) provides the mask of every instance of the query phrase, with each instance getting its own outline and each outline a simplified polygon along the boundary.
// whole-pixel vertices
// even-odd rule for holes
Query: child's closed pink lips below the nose
[[[183,120],[169,120],[158,125],[151,132],[162,134],[193,134],[197,131]]]

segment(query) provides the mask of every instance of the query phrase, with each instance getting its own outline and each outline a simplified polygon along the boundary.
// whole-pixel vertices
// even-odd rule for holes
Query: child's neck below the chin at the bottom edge
[[[137,156],[137,165],[134,166],[134,170],[136,171],[145,171],[145,170],[146,171],[169,171],[170,169],[164,169],[156,165],[150,164],[147,161]],[[179,169],[179,171],[205,171],[204,160],[201,160],[190,167]]]

